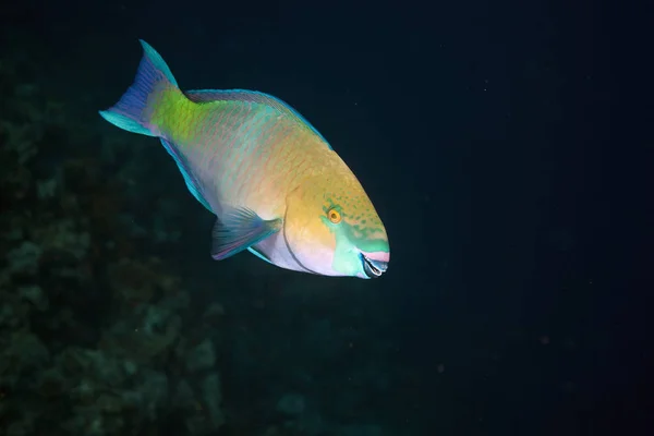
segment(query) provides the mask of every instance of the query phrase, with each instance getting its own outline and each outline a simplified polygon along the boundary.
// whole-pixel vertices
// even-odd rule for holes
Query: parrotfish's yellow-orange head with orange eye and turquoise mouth
[[[287,198],[283,226],[289,251],[310,272],[380,277],[390,249],[367,194],[353,174],[347,181],[318,179],[306,181]]]

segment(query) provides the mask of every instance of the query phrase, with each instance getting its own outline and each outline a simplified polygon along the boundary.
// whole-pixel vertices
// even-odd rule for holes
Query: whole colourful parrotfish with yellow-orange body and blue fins
[[[245,89],[181,90],[153,47],[131,87],[100,116],[159,137],[186,187],[216,215],[211,256],[249,250],[281,268],[375,278],[386,228],[348,165],[298,111]]]

